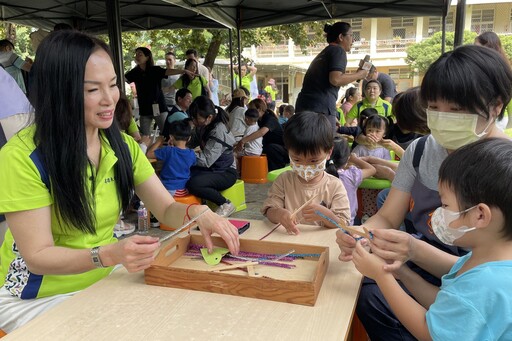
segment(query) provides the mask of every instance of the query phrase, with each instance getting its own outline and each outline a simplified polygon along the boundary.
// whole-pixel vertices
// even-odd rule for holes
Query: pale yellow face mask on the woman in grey
[[[478,141],[487,134],[493,121],[490,120],[485,129],[477,134],[478,115],[427,109],[427,125],[432,136],[437,143],[449,150],[456,150]]]

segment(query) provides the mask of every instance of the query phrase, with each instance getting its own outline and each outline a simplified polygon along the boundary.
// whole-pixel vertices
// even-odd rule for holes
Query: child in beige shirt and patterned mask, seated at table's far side
[[[325,115],[302,112],[293,115],[284,129],[284,144],[290,156],[292,170],[281,173],[268,191],[261,213],[273,223],[280,223],[289,234],[298,234],[299,222],[335,226],[322,222],[315,211],[334,221],[350,222],[347,192],[338,178],[325,172],[334,138],[332,127]],[[310,199],[313,201],[292,213]]]

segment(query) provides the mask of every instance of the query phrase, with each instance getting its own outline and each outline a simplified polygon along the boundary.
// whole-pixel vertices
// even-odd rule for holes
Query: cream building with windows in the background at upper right
[[[446,17],[446,31],[455,29],[456,0],[452,0]],[[481,33],[494,31],[499,35],[512,34],[512,2],[467,0],[465,30]],[[442,30],[441,17],[392,17],[341,19],[352,26],[354,44],[348,54],[347,68],[356,70],[359,60],[366,54],[379,72],[387,73],[395,81],[397,90],[403,91],[419,85],[421,75],[406,63],[406,49]],[[305,72],[313,58],[325,47],[319,44],[304,54],[293,41],[282,45],[247,47],[243,55],[255,61],[259,88],[264,88],[270,78],[276,80],[280,102],[295,103],[302,87]],[[227,61],[217,59],[216,69],[220,93],[231,91]]]

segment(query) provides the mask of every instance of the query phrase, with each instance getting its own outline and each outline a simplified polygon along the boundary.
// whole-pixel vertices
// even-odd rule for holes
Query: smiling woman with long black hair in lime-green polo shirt
[[[179,226],[206,206],[174,201],[137,143],[114,120],[119,99],[107,45],[58,31],[39,45],[30,83],[35,122],[0,150],[0,329],[10,332],[108,276],[122,264],[146,269],[158,238],[113,236],[137,194],[162,222]],[[48,81],[51,79],[51,81]],[[211,250],[220,234],[239,249],[236,228],[209,211],[198,220]]]

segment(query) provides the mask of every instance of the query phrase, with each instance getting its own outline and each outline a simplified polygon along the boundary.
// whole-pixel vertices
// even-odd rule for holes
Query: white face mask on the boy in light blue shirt
[[[434,230],[436,237],[446,245],[453,245],[453,242],[462,237],[464,234],[475,230],[476,227],[450,227],[450,224],[454,220],[457,220],[462,213],[467,212],[475,207],[476,206],[473,206],[461,212],[449,211],[443,207],[439,207],[437,210],[435,210],[434,214],[432,215],[431,222],[432,229]]]

